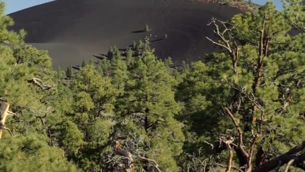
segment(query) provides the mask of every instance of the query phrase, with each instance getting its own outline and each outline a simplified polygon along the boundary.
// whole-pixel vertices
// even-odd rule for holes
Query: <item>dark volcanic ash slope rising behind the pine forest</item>
[[[26,42],[48,50],[53,65],[65,67],[150,34],[158,57],[195,61],[216,50],[205,38],[214,36],[209,20],[240,12],[199,0],[57,0],[10,16],[14,30],[28,32]],[[150,32],[141,32],[145,24]]]

